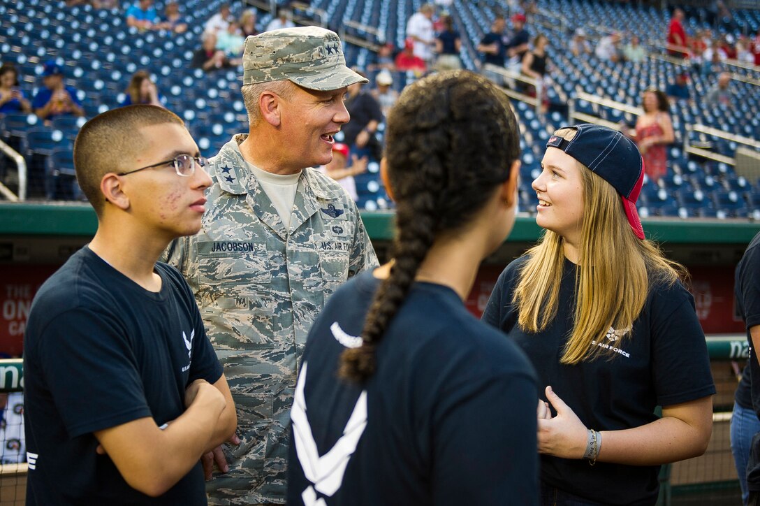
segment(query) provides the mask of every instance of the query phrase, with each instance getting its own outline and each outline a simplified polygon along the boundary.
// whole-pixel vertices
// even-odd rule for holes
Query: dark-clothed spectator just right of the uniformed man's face
[[[362,72],[354,72],[365,77]],[[382,145],[375,137],[378,126],[384,119],[380,104],[369,90],[366,90],[362,81],[350,84],[346,97],[346,109],[351,119],[342,130],[343,142],[351,148],[358,157],[369,154],[370,158],[380,160],[382,158]]]

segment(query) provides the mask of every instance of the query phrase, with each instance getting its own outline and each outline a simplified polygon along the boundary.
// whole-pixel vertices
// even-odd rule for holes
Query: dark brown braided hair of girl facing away
[[[442,72],[407,87],[388,116],[385,138],[397,205],[394,264],[372,300],[363,344],[341,356],[340,375],[359,382],[375,371],[375,346],[404,303],[435,237],[466,227],[520,156],[507,97],[467,71]]]

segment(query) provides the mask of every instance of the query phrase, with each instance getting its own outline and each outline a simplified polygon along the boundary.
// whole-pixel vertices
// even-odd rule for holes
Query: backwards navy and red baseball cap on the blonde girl
[[[575,137],[568,141],[552,135],[546,147],[565,151],[610,183],[622,198],[622,207],[633,233],[644,239],[644,228],[636,211],[636,200],[644,183],[644,161],[635,143],[606,126],[583,123],[564,128],[575,129]]]

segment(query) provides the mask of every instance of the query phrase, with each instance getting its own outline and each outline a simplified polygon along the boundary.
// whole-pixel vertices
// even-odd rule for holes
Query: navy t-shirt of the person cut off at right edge
[[[760,325],[760,247],[758,244],[760,244],[760,233],[752,238],[744,256],[739,260],[739,265],[736,266],[733,290],[736,297],[736,311],[744,320],[747,329],[752,407],[760,417],[760,380],[752,381],[752,378],[760,378],[760,366],[755,355],[755,345],[752,344],[752,335],[749,333],[749,329],[753,326]],[[739,396],[736,399],[738,400]]]

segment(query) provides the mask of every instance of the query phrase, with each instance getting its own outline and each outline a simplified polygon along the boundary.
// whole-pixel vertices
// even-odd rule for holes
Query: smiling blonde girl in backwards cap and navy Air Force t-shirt
[[[483,313],[545,388],[541,504],[653,505],[660,465],[710,441],[705,333],[686,269],[644,236],[641,164],[605,126],[554,132],[532,184],[542,239],[502,272]]]

